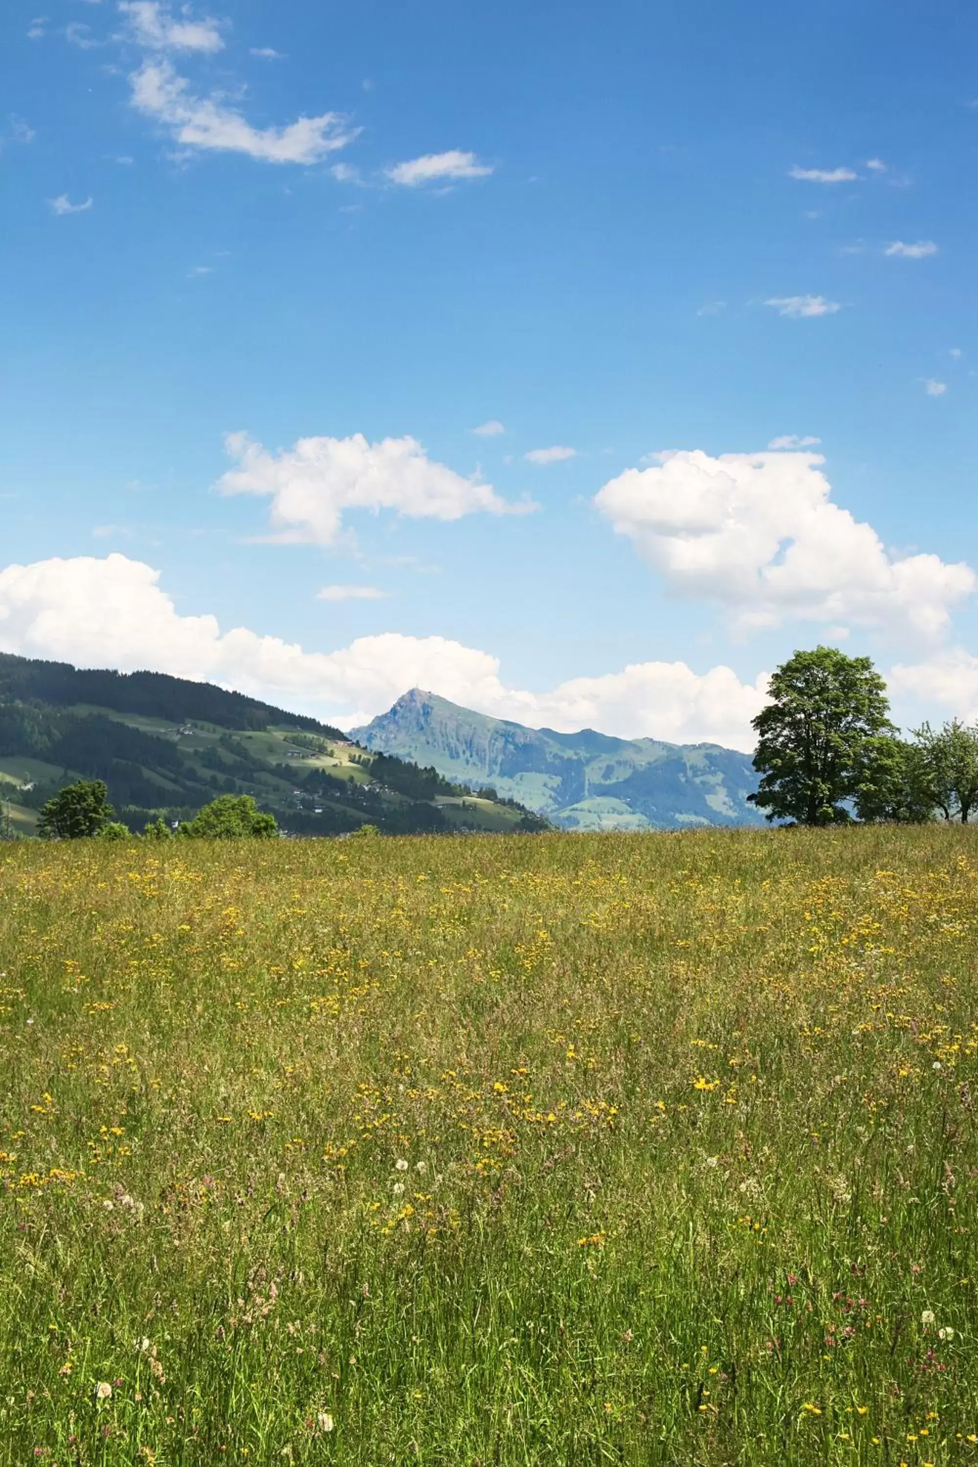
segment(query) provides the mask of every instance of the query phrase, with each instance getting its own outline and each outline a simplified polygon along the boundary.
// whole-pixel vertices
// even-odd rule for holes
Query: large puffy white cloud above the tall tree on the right
[[[965,563],[894,556],[831,503],[817,453],[663,453],[595,497],[670,591],[720,601],[739,631],[804,621],[941,635],[978,585]]]

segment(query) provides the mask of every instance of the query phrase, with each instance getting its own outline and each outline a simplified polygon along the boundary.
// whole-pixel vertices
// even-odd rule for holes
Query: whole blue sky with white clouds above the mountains
[[[827,640],[978,711],[974,4],[0,23],[0,648],[749,747]]]

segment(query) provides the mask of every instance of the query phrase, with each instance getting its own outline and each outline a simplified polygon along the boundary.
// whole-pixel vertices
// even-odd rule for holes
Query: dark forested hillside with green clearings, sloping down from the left
[[[0,829],[29,833],[51,795],[104,779],[132,830],[249,794],[293,835],[540,830],[513,801],[359,748],[315,719],[154,672],[88,672],[0,653]]]

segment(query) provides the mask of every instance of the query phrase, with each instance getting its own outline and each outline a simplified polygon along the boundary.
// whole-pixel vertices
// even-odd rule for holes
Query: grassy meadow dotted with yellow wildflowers
[[[0,851],[1,1463],[978,1464],[978,833]]]

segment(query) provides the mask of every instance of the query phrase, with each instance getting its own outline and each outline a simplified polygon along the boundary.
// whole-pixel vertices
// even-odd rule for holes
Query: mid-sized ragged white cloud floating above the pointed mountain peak
[[[491,484],[434,462],[412,437],[381,443],[368,443],[362,433],[299,439],[279,453],[268,453],[246,433],[232,433],[224,442],[239,467],[224,474],[217,489],[221,494],[270,494],[271,538],[283,544],[334,544],[348,509],[460,519],[535,508],[510,505]]]

